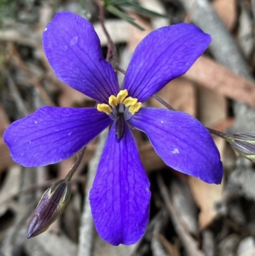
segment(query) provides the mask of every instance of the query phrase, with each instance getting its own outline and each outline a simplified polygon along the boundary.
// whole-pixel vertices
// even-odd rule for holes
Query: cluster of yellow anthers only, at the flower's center
[[[125,107],[129,107],[129,112],[133,115],[135,114],[140,107],[142,107],[142,103],[141,102],[137,102],[136,98],[132,98],[132,97],[128,97],[128,90],[121,90],[117,96],[113,96],[111,95],[109,97],[109,105],[102,103],[102,104],[98,104],[97,109],[100,112],[105,112],[106,114],[110,114],[112,113],[112,109],[114,109],[115,107],[117,107],[117,105],[119,104],[123,104]]]

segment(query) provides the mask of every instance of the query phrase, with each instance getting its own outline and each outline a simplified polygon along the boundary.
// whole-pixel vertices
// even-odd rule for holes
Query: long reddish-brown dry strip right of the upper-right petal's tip
[[[236,75],[208,57],[198,58],[184,77],[233,100],[255,107],[255,83]]]

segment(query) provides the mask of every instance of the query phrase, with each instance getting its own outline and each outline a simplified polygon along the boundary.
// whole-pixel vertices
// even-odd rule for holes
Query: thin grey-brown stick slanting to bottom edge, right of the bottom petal
[[[166,209],[169,215],[171,216],[173,227],[175,228],[175,231],[179,235],[180,240],[182,241],[182,244],[184,245],[187,254],[189,256],[205,256],[197,248],[197,242],[195,241],[195,239],[187,232],[187,230],[185,230],[184,226],[180,222],[178,213],[175,211],[175,208],[171,204],[171,200],[169,198],[166,185],[164,184],[164,181],[159,174],[157,175],[157,184],[159,186],[161,196],[163,197],[164,204],[166,205]]]

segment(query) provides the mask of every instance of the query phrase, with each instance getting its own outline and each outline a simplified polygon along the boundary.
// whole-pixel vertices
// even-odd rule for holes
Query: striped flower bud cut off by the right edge
[[[228,137],[230,146],[238,154],[255,163],[255,135],[252,133],[235,133]]]

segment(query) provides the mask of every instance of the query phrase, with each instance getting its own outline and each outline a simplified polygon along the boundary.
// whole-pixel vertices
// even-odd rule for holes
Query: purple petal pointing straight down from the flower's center
[[[129,126],[117,143],[113,124],[89,195],[96,230],[106,242],[131,245],[143,236],[149,221],[149,186]]]

